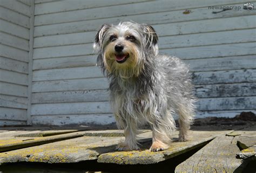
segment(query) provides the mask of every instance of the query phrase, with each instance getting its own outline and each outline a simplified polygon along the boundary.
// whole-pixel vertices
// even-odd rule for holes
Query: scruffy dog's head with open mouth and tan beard
[[[93,48],[103,71],[124,78],[138,76],[147,59],[158,54],[158,37],[152,26],[135,22],[104,24],[96,33]]]

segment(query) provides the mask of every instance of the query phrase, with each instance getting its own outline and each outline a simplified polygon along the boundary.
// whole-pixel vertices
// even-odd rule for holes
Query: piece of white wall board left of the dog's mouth
[[[33,60],[33,70],[95,66],[96,59],[95,55],[35,59]]]

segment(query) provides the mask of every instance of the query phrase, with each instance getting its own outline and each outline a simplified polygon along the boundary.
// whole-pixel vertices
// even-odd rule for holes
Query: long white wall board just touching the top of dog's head
[[[150,25],[157,25],[163,23],[173,23],[172,25],[180,25],[177,22],[189,22],[191,20],[203,20],[203,19],[214,19],[214,18],[223,18],[222,22],[226,21],[226,17],[234,17],[234,16],[244,16],[244,15],[252,15],[251,11],[248,10],[227,10],[226,13],[217,13],[213,14],[211,10],[204,8],[204,13],[209,14],[208,16],[202,15],[202,11],[200,9],[196,11],[196,16],[191,14],[188,16],[184,16],[183,12],[181,11],[173,11],[173,12],[164,12],[164,13],[149,13],[144,15],[135,15],[135,16],[122,16],[122,17],[114,17],[107,19],[107,23],[118,24],[120,21],[129,21],[133,20],[137,23],[147,23]],[[170,16],[169,13],[172,13]],[[176,16],[180,17],[176,17]],[[224,18],[225,17],[225,18]],[[205,21],[204,21],[205,22]],[[212,21],[211,21],[212,22]],[[61,24],[51,24],[51,25],[42,25],[35,27],[35,36],[46,36],[46,35],[53,35],[53,34],[63,34],[63,33],[73,33],[73,32],[84,32],[84,31],[94,31],[102,24],[106,23],[106,19],[96,19],[96,20],[83,20],[78,22],[69,22],[69,23],[61,23]],[[203,22],[201,22],[203,23]],[[250,25],[250,24],[249,24]],[[255,26],[255,24],[252,24]],[[173,26],[173,27],[174,27]],[[198,25],[197,25],[198,26]],[[234,27],[234,26],[233,26]],[[188,30],[187,28],[186,30]],[[158,30],[156,30],[158,32]],[[168,30],[171,32],[170,30]],[[166,31],[165,31],[166,32]]]

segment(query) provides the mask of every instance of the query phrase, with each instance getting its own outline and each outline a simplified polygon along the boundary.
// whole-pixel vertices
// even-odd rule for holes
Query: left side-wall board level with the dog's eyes
[[[16,36],[12,36],[10,34],[6,34],[0,32],[0,43],[5,45],[16,47],[18,49],[22,49],[24,51],[29,51],[29,41],[23,38],[19,38]]]

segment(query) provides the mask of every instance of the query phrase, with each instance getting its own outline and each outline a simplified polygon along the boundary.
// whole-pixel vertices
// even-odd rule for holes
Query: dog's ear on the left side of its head
[[[100,51],[105,33],[110,27],[111,25],[105,23],[102,26],[100,26],[99,29],[97,30],[96,36],[95,36],[95,43],[93,44],[93,49],[95,51],[97,52]]]

